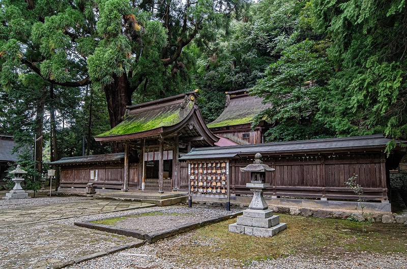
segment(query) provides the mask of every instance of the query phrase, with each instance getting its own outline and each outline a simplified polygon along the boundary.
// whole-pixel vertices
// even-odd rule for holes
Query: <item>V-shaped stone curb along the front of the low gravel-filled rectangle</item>
[[[236,218],[237,216],[242,215],[242,214],[243,214],[243,211],[229,214],[226,216],[215,217],[215,218],[211,218],[211,219],[203,220],[203,221],[199,221],[199,222],[187,223],[184,225],[174,227],[172,229],[161,230],[161,231],[150,232],[150,233],[145,233],[142,231],[136,231],[136,230],[131,230],[131,229],[118,228],[118,227],[111,226],[111,225],[95,224],[92,222],[75,222],[74,224],[76,226],[80,226],[80,227],[85,227],[85,228],[90,228],[90,229],[95,229],[95,230],[105,231],[105,232],[111,232],[111,233],[125,235],[125,236],[131,236],[131,237],[139,238],[141,240],[145,240],[148,243],[154,243],[154,242],[161,240],[163,238],[166,238],[166,237],[184,233],[184,232],[187,232],[190,230],[197,229],[199,227],[203,227],[203,226],[206,226],[209,224],[225,221],[225,220],[228,220],[231,218]]]

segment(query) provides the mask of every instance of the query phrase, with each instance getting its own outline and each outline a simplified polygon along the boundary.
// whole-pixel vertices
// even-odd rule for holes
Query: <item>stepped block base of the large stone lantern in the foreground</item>
[[[271,237],[285,228],[287,224],[280,223],[280,217],[273,216],[272,210],[247,209],[243,211],[243,216],[238,216],[236,223],[229,225],[229,232]]]

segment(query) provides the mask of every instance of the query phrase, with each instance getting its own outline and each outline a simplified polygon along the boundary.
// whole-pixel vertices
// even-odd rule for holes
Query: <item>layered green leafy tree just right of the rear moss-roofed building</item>
[[[289,46],[282,51],[281,58],[267,68],[266,77],[253,87],[253,94],[272,104],[257,119],[266,117],[278,124],[267,132],[269,141],[334,135],[324,123],[314,118],[318,102],[326,96],[327,79],[333,73],[324,53],[325,47],[325,42],[309,40]]]

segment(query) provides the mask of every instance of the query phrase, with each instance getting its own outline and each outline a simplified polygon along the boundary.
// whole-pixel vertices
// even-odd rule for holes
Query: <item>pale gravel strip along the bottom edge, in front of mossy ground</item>
[[[206,245],[216,251],[216,240],[192,241],[194,231],[168,238],[154,244],[146,244],[136,249],[124,250],[115,254],[68,266],[67,269],[116,269],[116,268],[154,268],[154,269],[402,269],[407,268],[407,255],[386,255],[359,253],[340,259],[322,259],[289,255],[285,258],[251,261],[235,259],[211,259],[196,261],[188,253],[177,252],[174,248],[183,245]],[[173,249],[173,251],[171,251]]]

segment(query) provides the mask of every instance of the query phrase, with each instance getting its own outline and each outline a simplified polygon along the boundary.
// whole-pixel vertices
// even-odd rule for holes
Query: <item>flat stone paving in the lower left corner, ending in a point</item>
[[[46,268],[123,245],[135,238],[55,222],[7,227],[0,235],[0,268]]]

